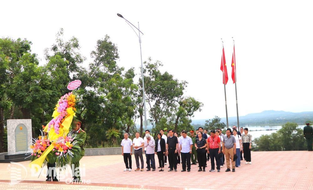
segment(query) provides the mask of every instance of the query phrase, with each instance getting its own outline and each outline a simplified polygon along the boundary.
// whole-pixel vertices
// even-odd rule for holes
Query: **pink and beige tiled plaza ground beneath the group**
[[[46,182],[45,171],[33,175],[29,161],[18,164],[0,164],[0,189],[313,189],[313,154],[308,151],[251,152],[252,164],[241,162],[236,172],[198,172],[192,165],[191,172],[134,171],[136,162],[132,156],[131,172],[124,172],[121,155],[85,156],[80,161],[82,184],[68,184],[71,175],[61,171],[60,182]],[[156,166],[158,166],[157,156]],[[144,160],[145,156],[144,156]],[[146,167],[146,162],[145,162]],[[146,168],[145,168],[146,170]],[[16,171],[19,172],[16,175]],[[14,173],[15,172],[15,173]],[[39,176],[39,177],[38,177]],[[12,185],[13,178],[22,182]],[[14,182],[14,181],[13,181]]]

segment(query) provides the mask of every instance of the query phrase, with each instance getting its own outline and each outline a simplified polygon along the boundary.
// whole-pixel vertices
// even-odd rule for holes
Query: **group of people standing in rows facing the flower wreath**
[[[198,163],[198,172],[205,172],[207,161],[211,159],[211,169],[209,172],[221,171],[225,164],[227,169],[225,172],[235,172],[236,167],[240,167],[241,161],[245,160],[245,164],[251,163],[251,144],[252,136],[248,134],[248,128],[240,128],[233,126],[228,128],[226,134],[221,129],[209,131],[203,127],[199,127],[196,133],[183,130],[180,133],[169,130],[167,135],[164,130],[156,135],[156,140],[150,135],[150,131],[145,131],[144,138],[140,137],[140,133],[136,132],[133,140],[129,139],[129,134],[124,133],[124,139],[121,142],[122,155],[126,169],[132,170],[131,155],[134,148],[136,160],[135,171],[144,171],[143,152],[146,154],[146,171],[155,171],[155,155],[159,161],[158,171],[163,172],[167,160],[169,163],[168,172],[177,172],[177,164],[182,164],[181,172],[190,172],[191,165]],[[139,162],[140,160],[140,162]],[[232,170],[230,169],[232,167]]]

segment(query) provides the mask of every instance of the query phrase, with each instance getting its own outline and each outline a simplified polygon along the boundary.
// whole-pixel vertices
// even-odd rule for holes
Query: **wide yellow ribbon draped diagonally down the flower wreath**
[[[73,121],[73,117],[75,116],[75,112],[73,111],[72,107],[67,108],[67,117],[64,119],[62,126],[63,128],[59,128],[59,134],[56,134],[54,131],[53,126],[51,126],[50,131],[49,131],[49,140],[50,140],[50,146],[41,154],[41,156],[31,162],[29,164],[29,167],[34,167],[36,172],[38,172],[38,169],[41,168],[42,164],[44,163],[45,158],[49,154],[49,152],[54,148],[52,145],[53,141],[58,140],[59,137],[65,137],[69,133],[69,127],[71,126],[71,123]],[[44,132],[48,132],[48,126],[44,128]]]

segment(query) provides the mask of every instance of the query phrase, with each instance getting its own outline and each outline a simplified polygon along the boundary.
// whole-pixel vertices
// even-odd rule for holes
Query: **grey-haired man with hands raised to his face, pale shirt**
[[[146,160],[147,160],[147,171],[150,171],[152,168],[152,171],[156,170],[156,163],[154,159],[154,147],[156,146],[154,139],[151,138],[150,134],[146,134],[146,140],[145,140],[145,152],[146,152]],[[150,164],[151,163],[151,167]]]

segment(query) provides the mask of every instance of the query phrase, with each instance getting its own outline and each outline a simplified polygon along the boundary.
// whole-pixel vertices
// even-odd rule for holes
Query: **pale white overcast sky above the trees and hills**
[[[179,80],[185,94],[204,103],[193,119],[225,117],[221,38],[228,67],[228,116],[236,116],[231,79],[235,40],[239,116],[264,110],[312,111],[312,3],[310,1],[3,1],[1,37],[27,38],[43,59],[44,48],[64,36],[90,51],[105,34],[117,44],[118,64],[140,73],[138,38],[122,14],[140,22],[143,60],[151,56]]]

